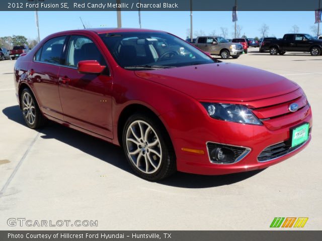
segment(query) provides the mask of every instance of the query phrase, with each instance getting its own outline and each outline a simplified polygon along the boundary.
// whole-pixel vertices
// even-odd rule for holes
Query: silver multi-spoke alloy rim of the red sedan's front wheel
[[[144,121],[132,122],[126,131],[126,151],[141,172],[156,172],[162,162],[161,143],[153,128]]]

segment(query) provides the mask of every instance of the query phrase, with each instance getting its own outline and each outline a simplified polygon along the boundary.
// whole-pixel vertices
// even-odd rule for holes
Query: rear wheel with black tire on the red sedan
[[[20,96],[21,110],[27,126],[38,129],[46,123],[46,118],[41,113],[37,101],[29,88],[23,89]]]

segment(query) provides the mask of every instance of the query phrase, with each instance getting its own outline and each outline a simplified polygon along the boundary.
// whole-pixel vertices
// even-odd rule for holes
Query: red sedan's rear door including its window
[[[33,90],[41,110],[61,120],[63,118],[58,93],[58,70],[65,42],[66,36],[48,40],[37,51],[28,69],[28,76],[33,83]]]

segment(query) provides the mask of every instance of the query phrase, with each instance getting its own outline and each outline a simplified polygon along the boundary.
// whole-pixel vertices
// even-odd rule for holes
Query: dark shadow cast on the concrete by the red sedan
[[[11,121],[26,126],[19,105],[6,107],[2,112],[11,119]],[[123,150],[120,147],[54,122],[48,122],[44,128],[38,129],[37,131],[43,134],[40,138],[56,139],[134,175],[134,172],[126,161]],[[182,188],[216,187],[243,181],[261,171],[262,170],[256,170],[220,176],[203,176],[177,172],[173,176],[166,180],[159,181],[158,183]]]

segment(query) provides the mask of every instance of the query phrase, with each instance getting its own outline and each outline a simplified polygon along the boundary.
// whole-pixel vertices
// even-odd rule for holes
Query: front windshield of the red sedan
[[[167,33],[107,33],[100,37],[115,61],[127,69],[214,63],[205,53]]]

